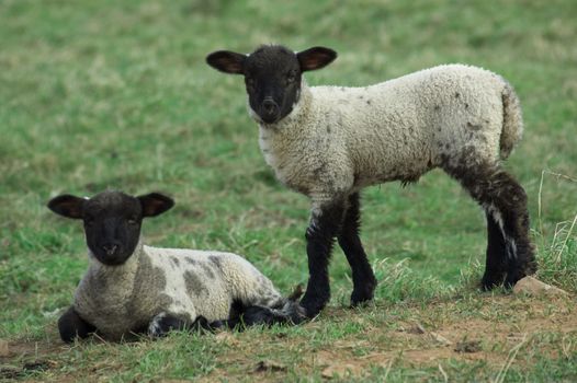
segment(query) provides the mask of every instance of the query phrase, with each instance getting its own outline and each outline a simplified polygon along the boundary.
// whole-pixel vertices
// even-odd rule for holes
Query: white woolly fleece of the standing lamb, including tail
[[[499,76],[445,65],[364,88],[312,86],[279,123],[260,124],[260,148],[313,208],[441,166],[495,164],[522,134],[519,102]]]

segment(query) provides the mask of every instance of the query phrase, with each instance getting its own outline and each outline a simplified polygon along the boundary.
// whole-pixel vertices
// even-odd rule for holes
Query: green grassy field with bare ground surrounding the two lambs
[[[0,380],[577,380],[575,20],[573,0],[0,0]],[[204,63],[263,43],[336,49],[312,84],[444,62],[506,77],[525,118],[507,169],[529,194],[538,276],[569,297],[479,292],[484,218],[433,171],[363,194],[367,307],[347,309],[337,249],[332,300],[303,326],[63,345],[87,257],[78,222],[45,208],[60,193],[168,193],[149,244],[244,254],[285,292],[306,282],[308,201],[265,165],[241,79]]]

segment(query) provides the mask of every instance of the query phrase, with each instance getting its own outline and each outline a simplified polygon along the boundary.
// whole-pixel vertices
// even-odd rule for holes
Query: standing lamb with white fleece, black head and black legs
[[[376,280],[359,239],[360,190],[416,182],[441,167],[483,207],[487,263],[483,288],[514,285],[535,271],[527,195],[501,167],[522,134],[511,85],[463,65],[426,69],[364,88],[307,86],[303,72],[337,54],[262,46],[250,55],[215,51],[215,69],[242,74],[267,163],[312,200],[306,231],[310,278],[301,301],[308,316],[328,302],[328,260],[338,239],[352,268],[351,303],[373,298]]]

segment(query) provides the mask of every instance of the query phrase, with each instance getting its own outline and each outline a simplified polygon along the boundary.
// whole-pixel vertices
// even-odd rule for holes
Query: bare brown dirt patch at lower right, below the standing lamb
[[[388,368],[393,363],[434,365],[448,359],[483,360],[499,367],[513,347],[529,344],[532,336],[577,333],[577,316],[572,313],[575,303],[569,299],[547,297],[542,300],[512,295],[486,298],[489,304],[483,305],[476,313],[480,317],[443,318],[440,326],[430,329],[419,322],[406,323],[398,332],[388,334],[388,344],[394,347],[382,345],[383,351],[362,357],[343,352],[343,348],[338,351],[331,348],[319,351],[315,364],[323,368],[325,378],[362,376],[372,367]],[[439,305],[448,306],[450,312],[454,303]],[[423,314],[422,311],[415,313]],[[430,320],[425,314],[422,316]],[[376,339],[378,333],[380,329],[371,329],[365,336]],[[575,345],[569,347],[577,351]],[[558,350],[554,347],[547,350],[547,345],[540,345],[540,351],[548,351],[552,358],[558,357]]]

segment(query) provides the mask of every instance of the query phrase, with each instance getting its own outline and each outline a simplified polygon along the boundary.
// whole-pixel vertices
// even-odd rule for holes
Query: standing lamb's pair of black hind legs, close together
[[[445,169],[485,209],[487,216],[487,267],[483,288],[505,282],[513,286],[536,270],[529,240],[527,194],[519,183],[498,165]]]

